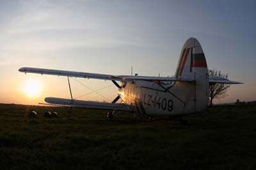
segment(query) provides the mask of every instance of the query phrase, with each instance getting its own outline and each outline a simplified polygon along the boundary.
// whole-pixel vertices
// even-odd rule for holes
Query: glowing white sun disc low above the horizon
[[[41,83],[35,80],[29,80],[24,83],[24,93],[29,97],[36,97],[41,92]]]

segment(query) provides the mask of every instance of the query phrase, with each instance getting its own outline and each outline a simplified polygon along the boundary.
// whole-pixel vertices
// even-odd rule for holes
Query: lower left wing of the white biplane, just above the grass
[[[104,110],[116,110],[116,111],[132,111],[131,106],[125,104],[111,104],[107,102],[93,102],[84,100],[71,100],[67,98],[54,98],[47,97],[45,102],[48,104],[68,105],[72,107],[84,107],[88,109],[104,109]]]

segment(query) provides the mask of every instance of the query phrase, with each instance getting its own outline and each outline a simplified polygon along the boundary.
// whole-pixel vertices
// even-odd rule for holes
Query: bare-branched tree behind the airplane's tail
[[[217,70],[209,70],[209,77],[211,76],[223,77],[225,79],[228,79],[228,74],[223,74]],[[220,83],[210,84],[210,87],[209,87],[210,105],[212,106],[212,100],[214,98],[226,97],[229,87],[230,87],[230,84],[220,84]]]

